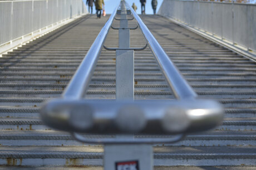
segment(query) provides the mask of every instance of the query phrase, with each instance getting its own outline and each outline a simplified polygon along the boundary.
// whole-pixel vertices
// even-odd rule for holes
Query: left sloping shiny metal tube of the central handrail
[[[63,97],[66,99],[81,99],[85,95],[87,87],[91,81],[91,77],[97,60],[101,54],[102,47],[106,40],[107,34],[111,28],[111,24],[115,18],[117,6],[114,9],[114,12],[111,14],[109,20],[107,20],[104,27],[101,29],[101,32],[93,42],[91,48],[88,50],[85,58],[82,60],[82,63],[76,70],[75,75],[71,79],[70,83],[63,92]]]

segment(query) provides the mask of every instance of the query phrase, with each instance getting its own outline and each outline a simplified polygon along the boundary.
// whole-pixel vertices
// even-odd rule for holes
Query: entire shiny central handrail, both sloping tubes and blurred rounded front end
[[[172,143],[181,140],[186,133],[209,130],[220,125],[224,114],[222,106],[213,100],[198,99],[140,17],[130,7],[128,10],[127,6],[122,0],[115,8],[63,92],[62,99],[48,101],[42,106],[43,122],[57,130],[70,132],[78,141],[105,144]],[[83,99],[117,12],[132,14],[137,20],[148,47],[178,100]],[[90,138],[78,133],[176,136]]]

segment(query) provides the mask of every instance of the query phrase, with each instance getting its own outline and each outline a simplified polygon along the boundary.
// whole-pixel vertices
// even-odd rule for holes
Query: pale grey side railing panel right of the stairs
[[[164,0],[158,14],[256,51],[256,4]]]

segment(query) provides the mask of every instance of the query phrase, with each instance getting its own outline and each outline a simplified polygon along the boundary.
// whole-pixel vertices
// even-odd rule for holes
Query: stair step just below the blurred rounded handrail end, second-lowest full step
[[[86,135],[86,137],[114,138],[115,136]],[[135,138],[144,137],[165,138],[170,136],[135,136]],[[255,131],[209,131],[188,135],[183,141],[163,144],[163,146],[256,146],[255,140]],[[0,144],[1,146],[90,146],[86,143],[77,142],[69,133],[52,130],[1,130]],[[161,145],[156,144],[155,146]]]

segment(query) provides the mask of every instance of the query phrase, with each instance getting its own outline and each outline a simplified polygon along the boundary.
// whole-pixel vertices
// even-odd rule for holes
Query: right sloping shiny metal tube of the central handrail
[[[146,25],[142,22],[142,20],[134,11],[134,9],[130,8],[130,10],[131,13],[134,15],[134,18],[137,20],[141,32],[144,35],[146,42],[152,51],[152,54],[155,56],[157,63],[159,64],[161,70],[163,71],[168,84],[173,90],[174,95],[178,99],[188,99],[197,97],[196,93],[192,90],[190,85],[179,73],[176,66],[169,59],[169,56],[165,53],[164,49],[157,42],[155,37],[152,35],[152,33],[146,27]]]

